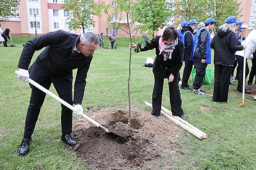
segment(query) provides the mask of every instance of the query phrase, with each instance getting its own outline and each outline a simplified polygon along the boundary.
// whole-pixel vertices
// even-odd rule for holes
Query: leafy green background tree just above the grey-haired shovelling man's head
[[[67,18],[68,29],[92,29],[95,22],[93,21],[93,15],[98,15],[97,6],[93,0],[67,0],[65,4],[61,6],[64,10],[70,11],[70,15]]]

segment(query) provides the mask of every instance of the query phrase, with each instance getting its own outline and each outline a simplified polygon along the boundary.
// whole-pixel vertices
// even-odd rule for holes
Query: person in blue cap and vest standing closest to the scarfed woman
[[[189,60],[192,52],[192,48],[194,45],[194,35],[193,31],[196,29],[196,24],[199,24],[199,22],[196,22],[195,19],[189,20],[188,25],[184,25],[183,29],[181,30],[182,32],[182,41],[184,44],[184,62],[185,62],[185,67],[183,70],[183,76],[182,76],[182,84],[180,86],[181,89],[184,90],[191,90],[188,85],[188,80],[189,76],[192,71],[193,67],[193,61]]]

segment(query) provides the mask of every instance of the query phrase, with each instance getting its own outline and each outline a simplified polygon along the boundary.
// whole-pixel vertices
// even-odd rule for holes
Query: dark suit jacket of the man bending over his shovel
[[[70,87],[65,87],[63,83],[72,83],[72,70],[77,69],[74,103],[82,103],[86,76],[93,56],[86,57],[79,53],[72,57],[72,49],[77,41],[79,36],[62,30],[31,39],[24,45],[18,67],[28,69],[35,51],[45,47],[29,68],[29,77],[37,83],[50,77],[54,85],[61,87],[58,88],[60,92],[65,94]]]

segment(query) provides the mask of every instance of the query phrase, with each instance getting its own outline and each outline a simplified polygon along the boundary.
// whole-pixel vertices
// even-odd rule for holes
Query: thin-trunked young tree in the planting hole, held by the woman
[[[141,34],[145,34],[145,31],[152,32],[163,27],[166,24],[166,20],[172,17],[170,15],[170,4],[163,0],[153,1],[136,1],[136,0],[116,0],[112,4],[101,4],[104,9],[104,13],[108,15],[108,21],[112,22],[113,25],[122,29],[129,35],[130,43],[132,43],[133,35],[140,30]],[[166,10],[169,9],[170,11]],[[113,18],[112,14],[115,14]],[[120,21],[125,22],[127,29],[119,25]],[[132,29],[134,24],[140,22],[140,25],[136,29]],[[128,48],[129,45],[127,45]],[[128,85],[128,105],[129,105],[129,119],[128,125],[131,125],[131,93],[130,93],[130,80],[131,80],[131,56],[132,49],[129,52],[129,76],[127,80]]]

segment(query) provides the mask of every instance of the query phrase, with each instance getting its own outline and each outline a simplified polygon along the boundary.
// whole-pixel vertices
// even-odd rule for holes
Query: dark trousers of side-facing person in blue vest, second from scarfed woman
[[[195,57],[195,59],[194,59],[194,63],[195,63],[195,67],[196,67],[196,75],[195,75],[195,79],[194,79],[194,83],[193,83],[193,89],[200,89],[200,87],[202,85],[202,81],[205,76],[205,69],[208,64],[202,63],[201,60],[202,59],[199,57]]]

